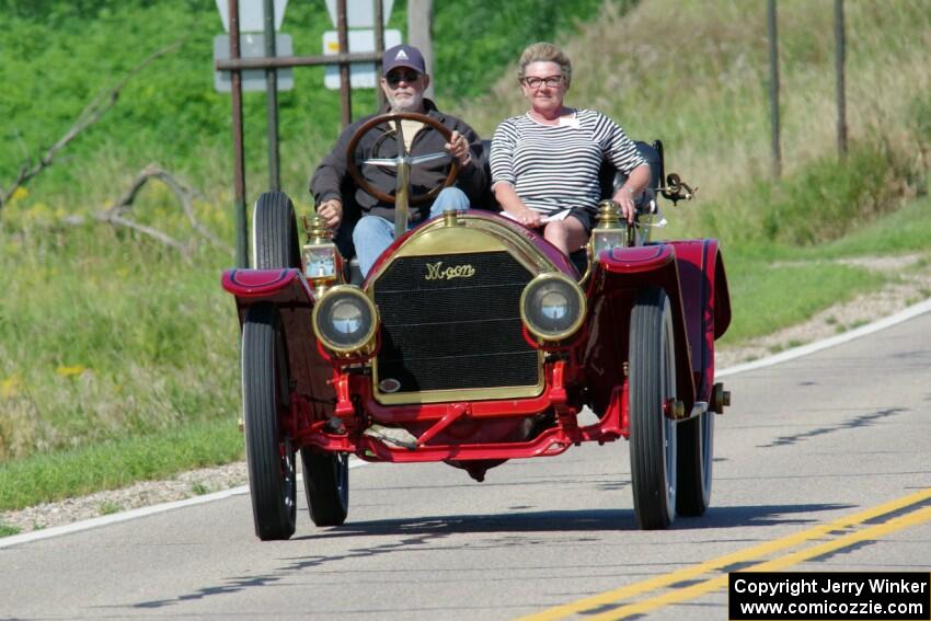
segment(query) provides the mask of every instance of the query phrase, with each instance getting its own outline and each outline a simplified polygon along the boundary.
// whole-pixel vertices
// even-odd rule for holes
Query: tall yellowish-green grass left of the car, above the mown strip
[[[99,225],[3,232],[0,461],[238,410],[239,326],[219,286],[229,257],[185,264]]]

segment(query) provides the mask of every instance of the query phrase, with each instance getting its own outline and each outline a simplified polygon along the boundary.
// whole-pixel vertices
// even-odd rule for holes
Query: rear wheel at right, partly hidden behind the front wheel
[[[711,467],[714,460],[714,413],[679,423],[677,460],[679,490],[676,511],[681,516],[704,515],[711,503]]]

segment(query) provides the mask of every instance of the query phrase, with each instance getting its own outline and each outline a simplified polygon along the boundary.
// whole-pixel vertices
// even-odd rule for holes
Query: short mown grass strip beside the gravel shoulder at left
[[[234,419],[180,425],[150,436],[110,440],[80,449],[0,463],[0,510],[20,509],[193,468],[242,459]]]

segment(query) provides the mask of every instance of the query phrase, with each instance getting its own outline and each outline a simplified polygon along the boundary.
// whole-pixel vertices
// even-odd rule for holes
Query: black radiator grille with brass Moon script
[[[398,380],[399,393],[536,386],[538,353],[519,310],[530,278],[507,252],[394,261],[373,289],[378,378]]]

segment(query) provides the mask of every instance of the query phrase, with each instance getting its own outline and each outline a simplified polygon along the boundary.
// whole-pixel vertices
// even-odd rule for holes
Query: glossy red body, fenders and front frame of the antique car
[[[537,232],[487,212],[478,216],[471,211],[469,216],[493,219],[520,232],[560,271],[577,277],[570,261]],[[404,239],[395,241],[381,261]],[[235,297],[240,320],[249,306],[260,301],[280,310],[294,386],[283,426],[295,448],[346,451],[371,461],[450,461],[482,471],[512,458],[553,456],[579,442],[628,437],[624,365],[631,307],[642,287],[663,287],[671,300],[677,396],[687,412],[694,403],[711,400],[714,341],[731,321],[724,264],[715,240],[616,249],[594,265],[585,284],[585,325],[572,343],[561,346],[560,356],[545,363],[541,394],[383,405],[372,396],[370,376],[329,359],[318,346],[311,324],[314,294],[299,269],[229,271],[222,286]],[[576,415],[586,404],[599,421],[579,426]],[[521,425],[537,415],[547,417],[545,425],[526,440]],[[342,422],[338,432],[326,430],[334,428],[333,416]],[[363,435],[371,423],[404,426],[419,439],[419,446],[415,450],[394,448]]]

